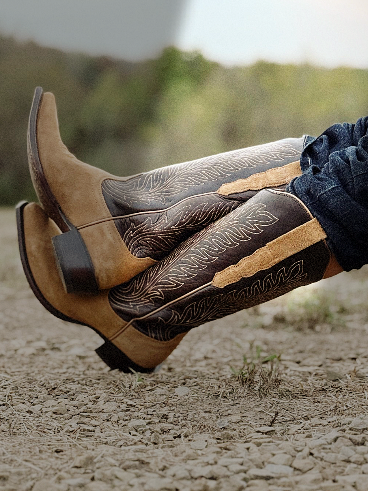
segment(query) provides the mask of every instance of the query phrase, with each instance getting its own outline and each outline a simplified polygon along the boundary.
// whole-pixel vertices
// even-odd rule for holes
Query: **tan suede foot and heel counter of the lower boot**
[[[97,295],[67,294],[57,272],[51,242],[51,237],[60,234],[59,228],[35,203],[26,206],[24,223],[26,254],[34,282],[54,309],[113,339],[112,342],[134,363],[145,368],[154,368],[177,347],[185,333],[162,342],[131,326],[124,330],[127,323],[111,308],[108,291]],[[116,336],[118,332],[120,334]]]

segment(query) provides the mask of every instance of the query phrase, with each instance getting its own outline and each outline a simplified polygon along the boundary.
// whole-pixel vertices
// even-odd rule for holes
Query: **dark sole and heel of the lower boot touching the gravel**
[[[134,363],[127,355],[125,355],[117,346],[115,346],[111,341],[109,341],[100,331],[95,329],[88,324],[83,324],[71,317],[64,315],[59,310],[55,309],[53,305],[45,299],[42,295],[42,292],[37,286],[37,283],[34,280],[26,252],[26,237],[25,237],[25,229],[24,229],[24,209],[28,203],[26,201],[21,201],[16,206],[16,217],[17,217],[17,231],[18,231],[18,245],[19,252],[21,256],[23,270],[26,274],[26,278],[28,284],[34,293],[37,300],[48,310],[51,314],[53,314],[58,319],[62,321],[71,322],[72,324],[79,324],[80,326],[87,326],[93,329],[104,341],[105,343],[97,348],[95,352],[100,358],[110,367],[111,370],[118,369],[125,373],[140,372],[140,373],[152,373],[158,371],[160,365],[158,365],[155,369],[152,368],[144,368],[136,363]]]

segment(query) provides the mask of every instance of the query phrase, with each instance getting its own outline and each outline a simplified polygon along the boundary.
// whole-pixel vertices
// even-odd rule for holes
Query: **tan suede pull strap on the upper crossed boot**
[[[259,191],[265,188],[275,188],[288,184],[292,178],[300,176],[302,170],[300,162],[291,162],[282,167],[274,167],[273,169],[253,174],[246,179],[238,179],[232,183],[226,183],[220,186],[218,194],[221,196],[229,196],[237,192],[244,191]]]

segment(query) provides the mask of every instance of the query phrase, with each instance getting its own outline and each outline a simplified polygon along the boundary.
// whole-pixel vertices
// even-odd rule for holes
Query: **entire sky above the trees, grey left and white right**
[[[0,0],[0,32],[126,59],[174,44],[228,65],[368,68],[368,0]]]

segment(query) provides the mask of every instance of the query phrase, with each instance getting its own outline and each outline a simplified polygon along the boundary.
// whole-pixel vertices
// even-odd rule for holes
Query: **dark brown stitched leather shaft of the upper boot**
[[[299,160],[303,138],[162,167],[127,180],[106,179],[102,191],[131,254],[165,257],[177,244],[235,210],[257,191],[225,198],[218,188]]]

